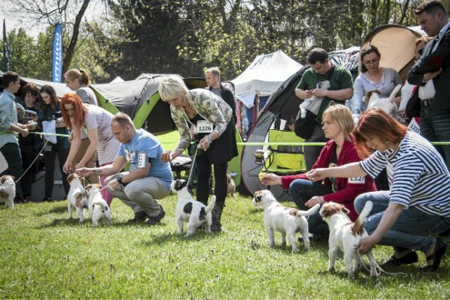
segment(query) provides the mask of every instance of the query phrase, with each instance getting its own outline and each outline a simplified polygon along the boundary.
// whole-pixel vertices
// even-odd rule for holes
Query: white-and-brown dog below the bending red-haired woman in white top
[[[79,223],[84,222],[84,208],[89,209],[89,200],[84,189],[84,178],[72,173],[68,176],[70,190],[68,193],[69,219],[73,218],[73,209],[76,209]]]

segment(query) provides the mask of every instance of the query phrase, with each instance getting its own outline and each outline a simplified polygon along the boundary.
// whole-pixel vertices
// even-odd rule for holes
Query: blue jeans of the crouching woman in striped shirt
[[[364,228],[369,235],[378,227],[389,205],[389,194],[390,191],[365,193],[354,200],[354,208],[358,214],[361,213],[367,201],[373,202],[371,215],[364,223]],[[449,228],[450,218],[427,214],[416,207],[409,207],[401,212],[399,219],[390,230],[387,230],[378,244],[427,252],[435,243],[435,237],[430,235],[437,235]]]

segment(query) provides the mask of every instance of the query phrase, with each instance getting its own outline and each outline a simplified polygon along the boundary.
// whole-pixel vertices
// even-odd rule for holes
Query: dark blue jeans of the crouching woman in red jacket
[[[306,207],[304,204],[311,199],[311,197],[330,194],[333,193],[333,190],[328,185],[315,182],[313,183],[304,179],[295,179],[295,181],[289,185],[289,193],[299,209],[308,210],[309,207]],[[313,233],[315,235],[330,234],[328,225],[322,220],[319,211],[316,211],[308,217],[308,228],[309,233]]]

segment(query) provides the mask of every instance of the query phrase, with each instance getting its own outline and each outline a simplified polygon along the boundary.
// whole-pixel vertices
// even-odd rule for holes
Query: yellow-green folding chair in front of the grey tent
[[[269,143],[302,143],[303,138],[295,135],[294,131],[278,129],[269,130]],[[304,164],[303,146],[300,145],[269,145],[269,149],[264,152],[264,167],[262,174],[295,175],[307,171]],[[277,200],[283,199],[285,195],[290,197],[289,189],[283,189],[283,193]]]

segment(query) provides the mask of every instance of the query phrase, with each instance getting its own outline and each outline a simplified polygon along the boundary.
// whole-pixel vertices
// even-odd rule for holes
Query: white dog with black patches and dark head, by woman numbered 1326
[[[172,181],[172,192],[176,193],[178,202],[176,202],[175,221],[178,225],[178,232],[183,233],[184,223],[188,223],[188,232],[186,237],[193,235],[195,229],[205,224],[206,233],[211,233],[212,216],[211,211],[216,203],[216,196],[212,196],[212,200],[208,206],[202,202],[193,200],[188,190],[188,181],[176,180]]]

